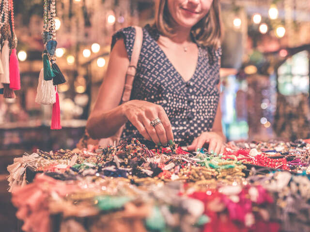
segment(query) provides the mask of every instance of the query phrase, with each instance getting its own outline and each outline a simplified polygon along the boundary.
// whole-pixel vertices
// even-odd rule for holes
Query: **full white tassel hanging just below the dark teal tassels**
[[[50,105],[56,102],[56,91],[53,85],[53,80],[44,80],[44,70],[41,69],[39,75],[39,83],[37,87],[37,95],[35,97],[35,102],[39,104]]]

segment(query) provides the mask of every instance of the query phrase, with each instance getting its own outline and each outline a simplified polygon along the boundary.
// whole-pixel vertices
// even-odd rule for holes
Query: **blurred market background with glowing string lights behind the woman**
[[[16,0],[21,90],[0,96],[1,228],[16,231],[6,167],[36,148],[73,148],[82,137],[109,62],[111,35],[153,22],[153,0],[57,0],[61,131],[51,106],[35,103],[42,68],[43,1]],[[221,0],[222,125],[228,140],[310,138],[310,0]],[[14,218],[14,219],[12,219]],[[4,225],[4,226],[2,226]]]

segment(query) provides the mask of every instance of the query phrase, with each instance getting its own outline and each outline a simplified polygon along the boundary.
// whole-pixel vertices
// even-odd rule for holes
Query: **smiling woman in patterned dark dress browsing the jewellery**
[[[222,152],[219,14],[219,0],[158,0],[155,24],[143,28],[130,101],[121,105],[135,29],[115,33],[107,76],[87,122],[91,137],[109,137],[125,123],[123,139],[147,145],[174,139],[189,150],[209,144],[210,152]]]

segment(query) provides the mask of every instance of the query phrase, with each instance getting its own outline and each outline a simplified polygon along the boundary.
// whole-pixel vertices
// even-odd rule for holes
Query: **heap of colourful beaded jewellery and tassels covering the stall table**
[[[8,167],[9,190],[24,231],[310,231],[307,142],[37,150]]]

